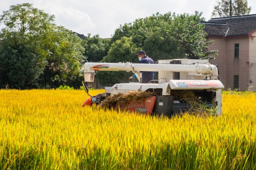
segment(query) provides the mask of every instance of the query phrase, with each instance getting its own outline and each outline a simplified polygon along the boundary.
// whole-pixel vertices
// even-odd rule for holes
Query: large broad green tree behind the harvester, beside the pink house
[[[132,38],[132,42],[139,48],[144,49],[146,54],[154,61],[174,58],[213,58],[216,50],[208,51],[208,45],[213,41],[206,42],[203,32],[204,25],[197,24],[205,20],[202,13],[194,15],[156,13],[150,17],[136,19],[133,24],[128,23],[115,30],[113,39],[121,36]]]

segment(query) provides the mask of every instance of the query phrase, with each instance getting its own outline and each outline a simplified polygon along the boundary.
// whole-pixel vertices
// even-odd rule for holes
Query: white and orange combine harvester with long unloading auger
[[[200,110],[200,105],[204,105],[206,108],[215,108],[217,115],[222,113],[221,89],[224,86],[218,80],[217,65],[208,60],[158,60],[158,64],[86,62],[82,70],[85,82],[94,81],[95,71],[132,71],[139,80],[139,83],[119,83],[105,88],[105,93],[91,96],[83,106],[96,103],[148,115],[173,116],[191,108]],[[140,71],[156,71],[158,80],[140,83]],[[85,82],[83,86],[88,93]],[[187,94],[192,94],[190,97],[197,105],[186,99]],[[106,104],[106,100],[110,102]]]

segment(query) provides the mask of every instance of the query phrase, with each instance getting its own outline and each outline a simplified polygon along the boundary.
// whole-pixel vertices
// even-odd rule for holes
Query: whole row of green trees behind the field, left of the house
[[[160,14],[120,25],[111,38],[88,34],[83,38],[54,23],[54,16],[23,3],[0,16],[0,88],[80,88],[83,62],[139,62],[138,50],[154,61],[198,57],[213,58],[213,42],[206,41],[202,13]],[[99,71],[102,86],[127,82],[132,73]]]

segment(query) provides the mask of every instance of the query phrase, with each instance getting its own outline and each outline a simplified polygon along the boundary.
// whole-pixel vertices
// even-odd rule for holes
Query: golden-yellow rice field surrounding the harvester
[[[255,93],[224,92],[219,117],[172,119],[82,108],[88,97],[0,90],[0,168],[256,169]]]

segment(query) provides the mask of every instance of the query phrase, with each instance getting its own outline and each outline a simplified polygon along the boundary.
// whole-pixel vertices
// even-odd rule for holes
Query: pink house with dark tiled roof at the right
[[[218,49],[210,62],[219,66],[225,89],[256,91],[256,14],[212,18],[205,24],[209,50]],[[253,87],[252,87],[253,86]]]

